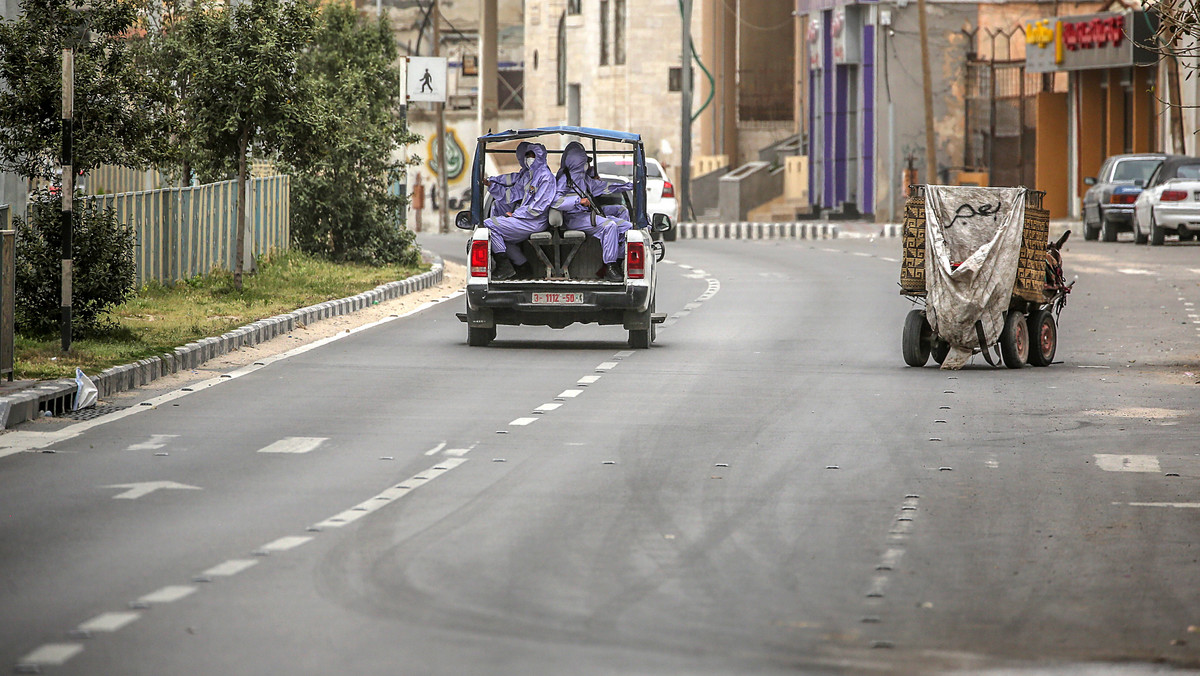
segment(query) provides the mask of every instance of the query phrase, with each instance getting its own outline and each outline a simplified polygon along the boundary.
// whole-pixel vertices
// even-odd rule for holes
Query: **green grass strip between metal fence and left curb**
[[[240,293],[233,286],[233,275],[223,271],[173,286],[151,283],[113,310],[115,327],[112,330],[80,336],[72,341],[70,354],[62,354],[58,335],[18,335],[16,377],[73,377],[76,367],[95,375],[265,317],[354,295],[427,269],[428,265],[418,269],[330,263],[287,252],[260,262],[254,275],[244,276]]]

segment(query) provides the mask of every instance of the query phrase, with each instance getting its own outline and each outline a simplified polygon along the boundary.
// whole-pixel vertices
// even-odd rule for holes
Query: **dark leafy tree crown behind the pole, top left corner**
[[[133,65],[130,0],[23,0],[0,22],[0,169],[53,179],[62,148],[62,49],[74,47],[74,164],[145,167],[164,151],[162,89]],[[91,41],[82,42],[85,29]]]

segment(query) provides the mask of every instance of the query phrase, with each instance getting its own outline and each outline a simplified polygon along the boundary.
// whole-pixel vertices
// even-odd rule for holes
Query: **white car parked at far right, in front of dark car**
[[[1134,202],[1138,244],[1163,244],[1168,234],[1188,241],[1200,234],[1200,157],[1168,155]]]

